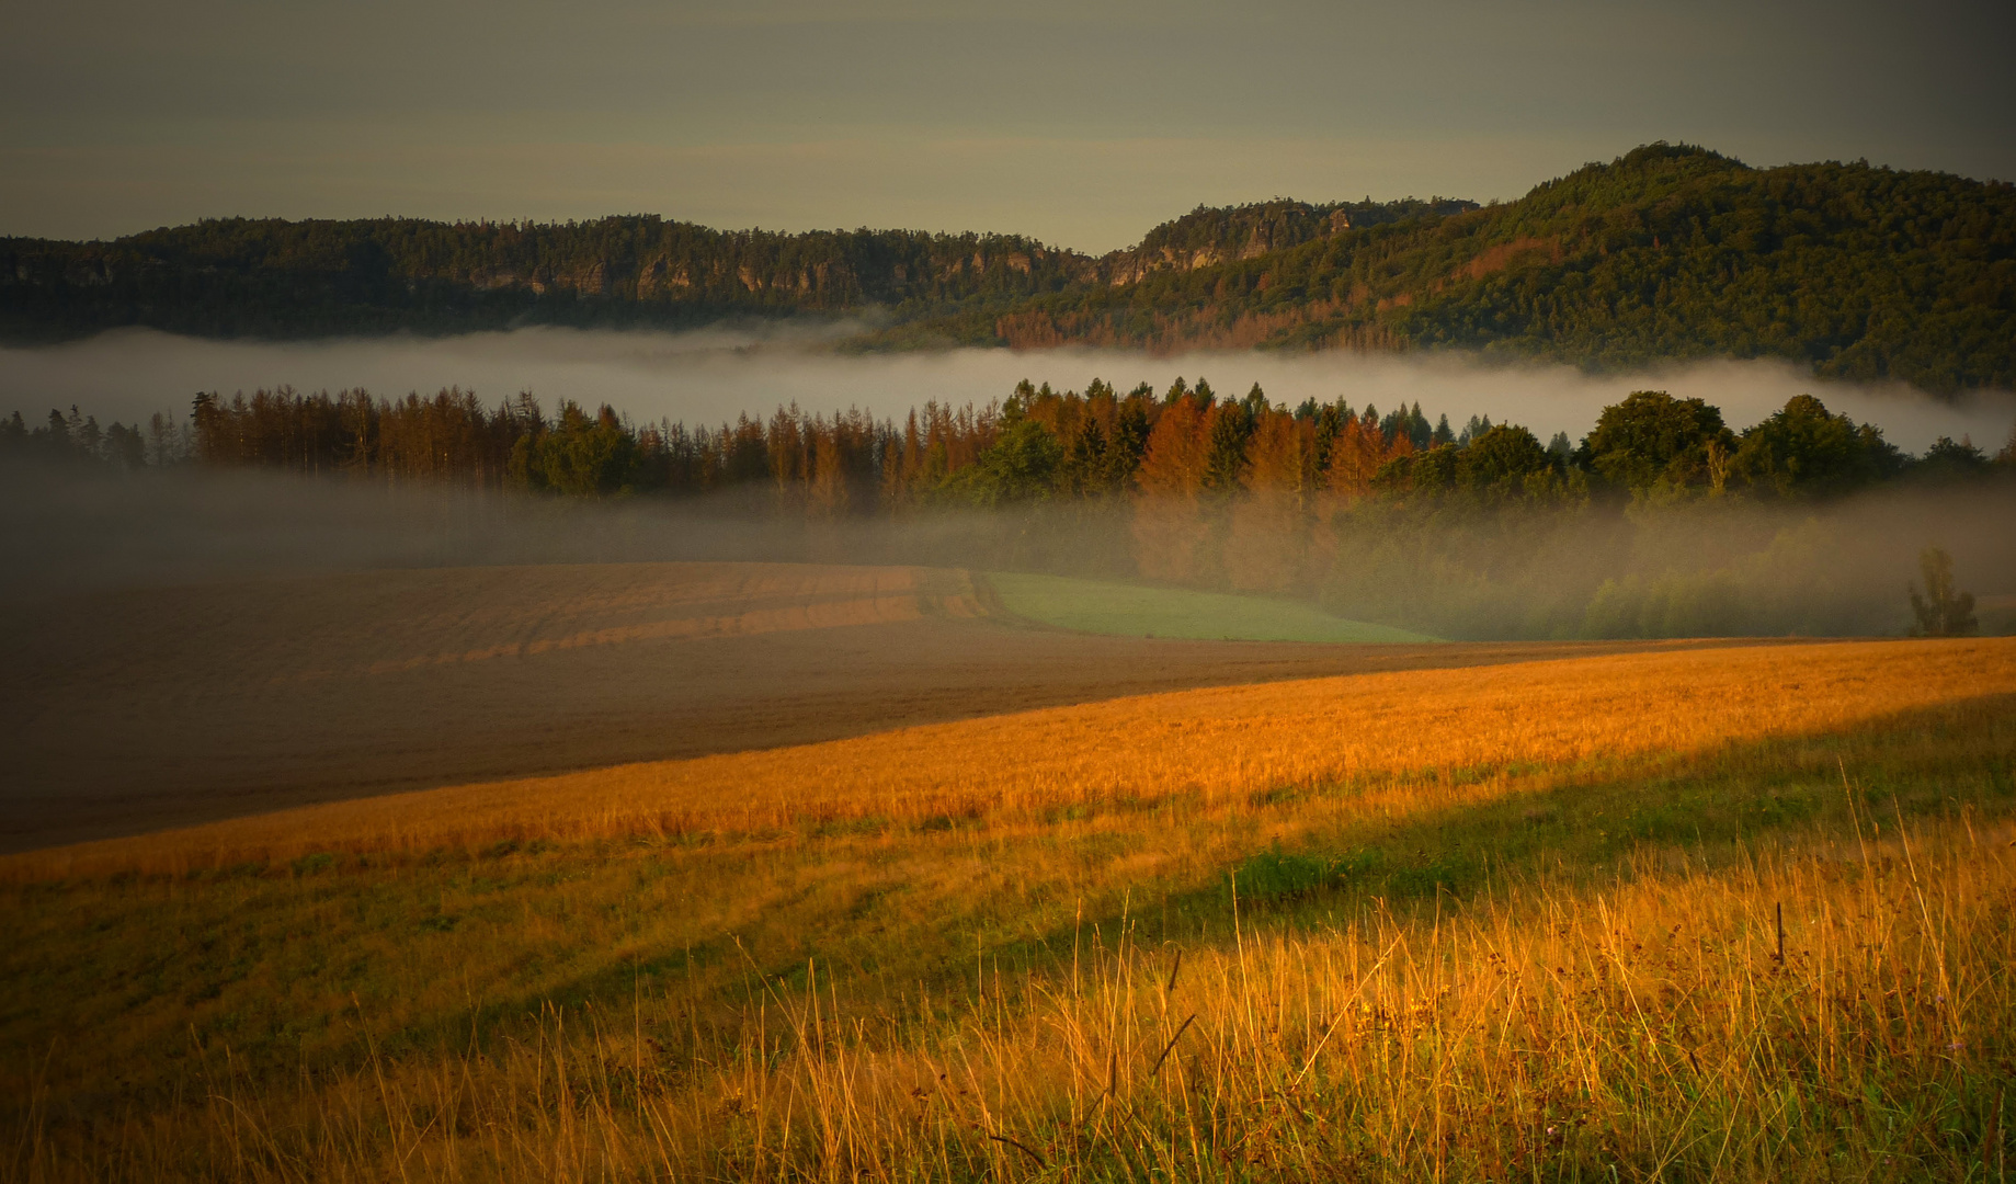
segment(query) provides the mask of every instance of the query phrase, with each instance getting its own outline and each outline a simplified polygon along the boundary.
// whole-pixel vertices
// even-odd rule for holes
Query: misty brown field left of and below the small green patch
[[[0,849],[1157,690],[1675,645],[1091,637],[990,603],[960,571],[770,563],[18,603],[0,625]]]

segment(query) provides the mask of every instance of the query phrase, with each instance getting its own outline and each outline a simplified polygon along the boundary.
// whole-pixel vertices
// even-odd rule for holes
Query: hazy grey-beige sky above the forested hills
[[[0,234],[202,216],[1020,230],[1516,198],[1651,139],[2016,177],[2016,6],[12,0]]]

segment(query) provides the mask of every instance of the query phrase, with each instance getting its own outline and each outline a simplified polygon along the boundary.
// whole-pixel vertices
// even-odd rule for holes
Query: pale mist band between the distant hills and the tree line
[[[1835,411],[1883,428],[1907,452],[1939,436],[1994,452],[2016,424],[2016,395],[1970,391],[1931,397],[1903,383],[1820,381],[1786,361],[1712,361],[1639,373],[1585,373],[1566,365],[1482,363],[1462,353],[1181,353],[1121,349],[948,349],[837,355],[825,343],[859,329],[810,319],[722,325],[685,333],[518,329],[466,337],[339,339],[317,343],[204,341],[155,331],[117,331],[71,345],[0,349],[0,416],[40,422],[73,403],[101,424],[145,422],[155,411],[187,416],[196,391],[250,393],[290,385],[300,391],[363,387],[375,395],[474,389],[498,403],[532,391],[548,407],[575,399],[609,403],[637,422],[669,418],[689,426],[766,416],[784,403],[806,411],[861,407],[901,418],[927,399],[986,405],[1016,381],[1081,389],[1103,377],[1119,389],[1177,375],[1212,381],[1224,395],[1260,383],[1274,403],[1349,399],[1391,411],[1421,403],[1447,413],[1524,424],[1546,440],[1581,440],[1597,411],[1635,389],[1665,389],[1722,407],[1734,428],[1754,424],[1798,393],[1816,393]]]

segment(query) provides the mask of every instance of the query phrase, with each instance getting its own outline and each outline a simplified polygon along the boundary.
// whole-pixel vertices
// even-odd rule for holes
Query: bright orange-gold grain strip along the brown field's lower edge
[[[1353,785],[1361,809],[1476,801],[1528,764],[1697,754],[2016,692],[2016,641],[1853,641],[1413,670],[1135,696],[853,740],[500,781],[0,861],[40,879],[183,873],[310,851],[760,833],[847,819],[1040,819],[1195,795],[1212,809]],[[1429,781],[1431,785],[1423,785]],[[1391,801],[1379,791],[1395,791]]]

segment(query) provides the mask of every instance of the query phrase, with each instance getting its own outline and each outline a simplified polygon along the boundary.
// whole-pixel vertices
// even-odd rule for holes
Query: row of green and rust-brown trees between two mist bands
[[[1633,391],[1603,407],[1570,444],[1542,444],[1518,424],[1447,416],[1421,405],[1381,413],[1345,399],[1276,405],[1254,383],[1222,397],[1200,377],[1127,393],[1103,379],[1054,391],[1028,379],[1006,401],[927,401],[899,420],[859,409],[685,426],[637,424],[615,407],[562,399],[552,413],[530,393],[496,405],[460,387],[431,397],[363,389],[260,389],[230,399],[204,391],[185,420],[111,424],[77,407],[30,428],[0,420],[10,456],[99,460],[127,468],[200,464],[268,468],[383,482],[452,482],[480,490],[569,496],[762,490],[778,506],[873,514],[905,506],[1004,506],[1131,498],[1204,504],[1278,500],[1294,512],[1322,502],[1568,502],[1587,498],[1816,498],[1891,480],[1986,478],[2016,464],[2016,432],[1996,456],[1972,440],[1937,440],[1909,456],[1873,424],[1796,395],[1736,432],[1720,407]]]

